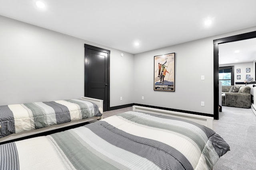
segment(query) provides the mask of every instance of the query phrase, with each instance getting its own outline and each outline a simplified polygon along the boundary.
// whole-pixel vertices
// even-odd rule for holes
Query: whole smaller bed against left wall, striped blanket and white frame
[[[0,106],[0,143],[103,118],[103,100],[80,99]]]

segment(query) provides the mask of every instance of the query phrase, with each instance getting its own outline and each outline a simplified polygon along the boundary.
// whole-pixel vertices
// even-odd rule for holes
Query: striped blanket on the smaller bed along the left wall
[[[96,104],[80,99],[4,105],[0,106],[0,138],[101,115]]]

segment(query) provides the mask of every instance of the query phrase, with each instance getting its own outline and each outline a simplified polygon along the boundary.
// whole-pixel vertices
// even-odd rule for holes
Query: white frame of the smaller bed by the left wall
[[[70,121],[70,122],[67,122],[67,123],[62,123],[62,124],[58,124],[58,125],[43,127],[43,128],[40,128],[40,129],[31,130],[31,131],[23,131],[23,132],[20,132],[20,133],[13,133],[12,135],[0,138],[0,144],[12,142],[12,141],[18,141],[18,140],[25,139],[25,138],[30,138],[29,136],[34,136],[34,135],[37,135],[39,133],[46,133],[46,132],[49,132],[49,131],[56,131],[57,129],[60,129],[60,128],[66,128],[66,127],[69,127],[69,126],[72,127],[74,125],[86,123],[88,121],[93,121],[93,120],[96,120],[96,119],[103,119],[103,100],[88,98],[88,97],[81,97],[80,99],[86,100],[88,102],[94,102],[99,107],[99,110],[102,113],[102,116],[91,117],[91,118],[82,119],[82,120],[78,120],[78,121]]]

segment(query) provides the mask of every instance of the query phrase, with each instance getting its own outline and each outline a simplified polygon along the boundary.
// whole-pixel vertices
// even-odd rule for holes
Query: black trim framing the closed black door
[[[104,52],[104,53],[108,53],[108,85],[107,85],[107,88],[108,88],[108,101],[105,101],[107,102],[107,110],[110,110],[110,50],[107,50],[107,49],[102,49],[102,48],[99,48],[99,47],[95,47],[95,46],[92,46],[92,45],[88,45],[88,44],[84,44],[84,94],[86,95],[86,87],[88,86],[88,80],[87,80],[87,77],[86,77],[86,73],[87,73],[87,58],[88,56],[86,56],[86,54],[88,53],[88,49],[92,49],[92,50],[95,50],[95,51],[100,51],[100,52]]]

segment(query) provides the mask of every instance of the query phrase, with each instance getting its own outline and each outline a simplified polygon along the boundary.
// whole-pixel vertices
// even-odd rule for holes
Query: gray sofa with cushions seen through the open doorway
[[[222,106],[251,108],[250,91],[251,88],[249,86],[222,86]]]

